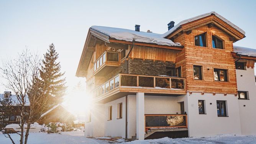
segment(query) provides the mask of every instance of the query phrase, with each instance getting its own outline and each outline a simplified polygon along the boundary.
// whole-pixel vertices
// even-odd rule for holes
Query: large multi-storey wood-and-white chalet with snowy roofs
[[[164,34],[92,26],[77,68],[94,106],[85,136],[137,139],[256,134],[256,50],[216,12]]]

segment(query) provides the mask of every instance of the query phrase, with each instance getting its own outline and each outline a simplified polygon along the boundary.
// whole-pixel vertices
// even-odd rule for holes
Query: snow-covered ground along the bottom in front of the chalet
[[[18,143],[17,134],[11,134],[15,142]],[[193,137],[171,139],[164,137],[162,139],[150,139],[143,141],[125,142],[124,139],[111,139],[110,137],[84,137],[82,131],[62,132],[61,134],[30,133],[28,144],[256,144],[256,136],[235,136],[218,135],[212,137]],[[10,140],[0,134],[0,144],[11,144]]]

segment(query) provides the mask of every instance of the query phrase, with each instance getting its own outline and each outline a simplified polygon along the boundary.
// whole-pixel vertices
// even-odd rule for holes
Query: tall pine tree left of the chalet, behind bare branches
[[[51,44],[46,54],[44,54],[40,70],[40,77],[44,85],[48,87],[48,90],[46,90],[48,109],[63,101],[63,95],[67,88],[65,86],[66,78],[62,79],[65,72],[60,72],[61,65],[60,62],[57,62],[58,57],[59,54],[56,52],[54,44]]]

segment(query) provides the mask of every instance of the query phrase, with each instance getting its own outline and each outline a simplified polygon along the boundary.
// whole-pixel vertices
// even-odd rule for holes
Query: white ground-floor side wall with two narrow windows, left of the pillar
[[[117,119],[117,104],[123,103],[123,116]],[[101,121],[105,123],[104,136],[123,137],[125,138],[125,97],[119,98],[109,103],[105,103],[105,117],[101,117]],[[112,106],[112,120],[108,121],[108,106]]]

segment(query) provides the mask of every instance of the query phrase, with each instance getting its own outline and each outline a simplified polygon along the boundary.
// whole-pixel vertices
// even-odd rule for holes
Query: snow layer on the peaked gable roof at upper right
[[[245,35],[245,31],[243,31],[243,29],[239,28],[238,26],[234,25],[233,23],[231,23],[230,21],[228,21],[226,18],[222,17],[221,15],[219,15],[218,13],[216,13],[215,11],[212,11],[210,13],[205,13],[199,16],[195,16],[193,18],[189,18],[187,20],[183,20],[181,22],[179,22],[176,26],[174,26],[173,28],[171,28],[169,31],[167,31],[166,33],[162,34],[162,37],[165,38],[166,36],[168,36],[169,34],[171,34],[172,32],[174,32],[177,28],[179,28],[181,25],[184,25],[186,23],[189,23],[191,21],[195,21],[195,20],[199,20],[200,18],[205,18],[206,16],[210,16],[210,15],[215,15],[218,18],[220,18],[221,20],[223,20],[225,23],[227,23],[228,25],[232,26],[233,28],[235,28],[236,30],[238,30],[240,33]]]

